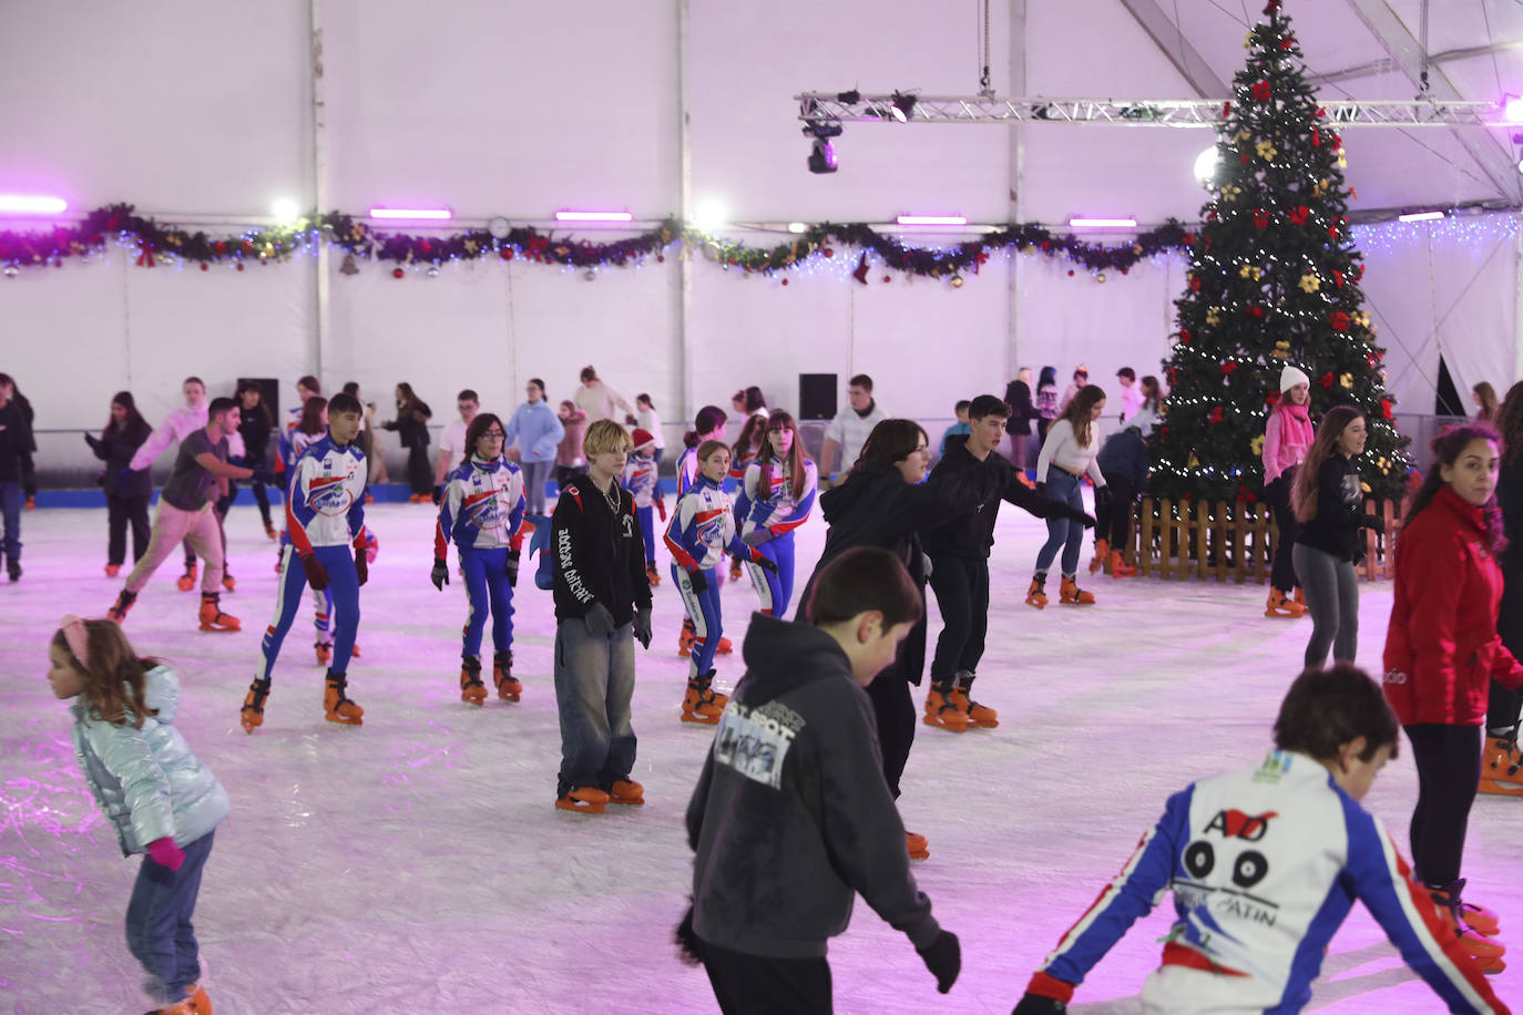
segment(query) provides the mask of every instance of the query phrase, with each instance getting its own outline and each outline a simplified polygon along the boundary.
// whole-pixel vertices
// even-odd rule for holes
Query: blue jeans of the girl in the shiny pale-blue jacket
[[[212,835],[207,832],[184,846],[186,861],[178,870],[143,857],[133,901],[126,904],[126,947],[148,971],[149,994],[166,1004],[183,1001],[186,986],[201,978],[190,916],[201,892],[201,870],[212,854]]]

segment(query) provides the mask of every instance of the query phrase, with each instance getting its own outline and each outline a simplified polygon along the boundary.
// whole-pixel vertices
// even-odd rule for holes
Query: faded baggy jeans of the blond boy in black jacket
[[[560,778],[556,796],[577,787],[606,790],[635,765],[629,702],[635,695],[634,622],[594,638],[580,618],[556,625],[556,708]]]

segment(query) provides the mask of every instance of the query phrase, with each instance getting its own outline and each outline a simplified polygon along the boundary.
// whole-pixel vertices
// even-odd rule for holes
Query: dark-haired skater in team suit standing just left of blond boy
[[[465,638],[460,645],[460,700],[486,705],[481,682],[481,632],[492,612],[492,682],[496,695],[516,702],[524,685],[513,679],[513,586],[524,525],[524,473],[503,457],[507,429],[492,412],[478,412],[466,428],[466,457],[445,479],[434,528],[434,587],[449,583],[446,552],[454,540],[466,578]]]

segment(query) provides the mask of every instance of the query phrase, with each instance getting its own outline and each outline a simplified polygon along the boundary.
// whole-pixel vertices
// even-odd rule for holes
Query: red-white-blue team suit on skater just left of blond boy
[[[509,554],[518,560],[525,505],[524,472],[506,458],[483,461],[472,455],[445,479],[434,527],[434,560],[445,560],[454,540],[471,603],[461,659],[481,654],[489,609],[493,651],[513,650],[513,587],[507,562]]]

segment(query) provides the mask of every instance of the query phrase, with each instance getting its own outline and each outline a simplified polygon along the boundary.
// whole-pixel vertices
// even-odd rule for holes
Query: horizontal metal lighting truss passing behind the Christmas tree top
[[[793,96],[798,119],[818,123],[1112,123],[1116,126],[1217,128],[1226,122],[1224,99],[1001,99],[998,96],[860,94],[806,91]],[[897,102],[897,105],[896,105]],[[1496,102],[1430,99],[1325,100],[1328,120],[1351,126],[1515,126]]]

